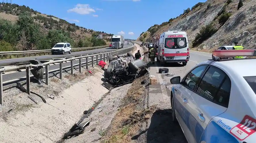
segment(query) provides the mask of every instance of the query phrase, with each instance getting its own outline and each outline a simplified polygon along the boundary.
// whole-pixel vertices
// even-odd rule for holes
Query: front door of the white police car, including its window
[[[173,86],[174,91],[172,92],[174,93],[175,114],[189,142],[194,140],[194,137],[187,128],[187,122],[189,119],[187,101],[191,94],[193,94],[198,82],[200,81],[200,76],[206,67],[207,65],[199,65],[195,67],[181,80],[181,84]]]

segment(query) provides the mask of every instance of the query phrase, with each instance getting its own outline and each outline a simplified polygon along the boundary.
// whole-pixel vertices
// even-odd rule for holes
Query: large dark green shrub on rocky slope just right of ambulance
[[[214,33],[216,33],[217,29],[213,27],[213,25],[209,24],[203,27],[200,32],[196,35],[195,40],[192,43],[193,47],[201,44],[206,39],[210,38]]]

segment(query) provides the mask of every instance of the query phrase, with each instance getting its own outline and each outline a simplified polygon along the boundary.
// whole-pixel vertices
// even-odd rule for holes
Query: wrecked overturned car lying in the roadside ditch
[[[141,59],[134,60],[135,57],[130,52],[124,56],[109,55],[108,58],[108,68],[104,69],[104,78],[107,83],[103,83],[103,86],[108,89],[131,83],[148,73],[147,63]]]

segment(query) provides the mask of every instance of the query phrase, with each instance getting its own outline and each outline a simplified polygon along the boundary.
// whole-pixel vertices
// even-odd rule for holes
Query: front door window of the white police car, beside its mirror
[[[205,68],[206,68],[206,65],[202,65],[202,66],[196,67],[191,72],[189,72],[189,74],[187,74],[187,77],[183,82],[184,85],[190,88],[191,90],[194,90]]]

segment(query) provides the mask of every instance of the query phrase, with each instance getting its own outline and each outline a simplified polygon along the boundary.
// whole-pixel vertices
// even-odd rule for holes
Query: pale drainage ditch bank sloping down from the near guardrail
[[[111,110],[114,108],[111,107],[108,111],[104,111],[108,107],[98,108],[97,104],[110,98],[113,92],[116,98],[111,98],[109,102],[117,102],[116,99],[119,99],[121,94],[125,94],[130,86],[129,84],[112,91],[107,90],[101,86],[104,73],[98,66],[83,68],[81,73],[79,68],[75,68],[74,76],[70,76],[70,70],[64,70],[62,80],[57,78],[60,76],[58,72],[55,71],[52,74],[54,76],[49,76],[48,86],[33,83],[34,81],[31,80],[31,91],[43,96],[46,104],[41,102],[39,97],[34,97],[35,100],[40,101],[35,105],[27,98],[26,93],[20,92],[17,88],[4,89],[3,99],[6,104],[1,107],[0,113],[0,142],[56,142],[70,130],[74,123],[83,119],[83,113],[87,115],[108,114],[108,112],[116,111],[117,107],[115,110]],[[25,82],[20,82],[20,84],[23,85]],[[24,87],[26,88],[26,85]],[[51,95],[52,98],[47,95]],[[92,109],[92,107],[96,109],[87,113],[91,111],[87,109]],[[85,110],[87,112],[84,112]],[[86,121],[96,123],[95,121],[99,119],[100,117],[93,119],[89,117]],[[86,123],[84,125],[88,126]],[[95,130],[99,132],[100,129]],[[98,132],[96,134],[99,134]],[[74,140],[74,142],[79,141]]]

